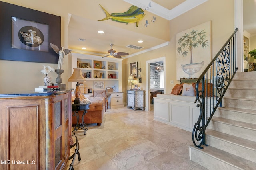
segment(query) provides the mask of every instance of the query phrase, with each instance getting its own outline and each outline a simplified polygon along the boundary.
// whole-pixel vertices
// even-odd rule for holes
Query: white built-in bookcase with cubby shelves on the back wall
[[[105,87],[116,86],[116,91],[122,91],[122,59],[86,55],[72,53],[69,58],[70,70],[80,68],[86,82],[84,87],[94,88],[96,81],[104,81]],[[72,72],[70,73],[70,75]],[[72,84],[72,88],[76,87],[76,83]],[[83,92],[82,92],[83,93]]]

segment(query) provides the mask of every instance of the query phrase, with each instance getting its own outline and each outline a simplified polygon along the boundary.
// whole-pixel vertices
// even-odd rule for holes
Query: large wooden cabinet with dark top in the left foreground
[[[65,169],[72,143],[70,121],[70,90],[0,94],[0,169]]]

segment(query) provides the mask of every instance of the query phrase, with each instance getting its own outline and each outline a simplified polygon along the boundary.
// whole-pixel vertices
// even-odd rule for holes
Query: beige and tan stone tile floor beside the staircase
[[[74,170],[206,170],[189,160],[192,133],[154,121],[153,109],[109,109],[101,126],[75,135],[82,160]]]

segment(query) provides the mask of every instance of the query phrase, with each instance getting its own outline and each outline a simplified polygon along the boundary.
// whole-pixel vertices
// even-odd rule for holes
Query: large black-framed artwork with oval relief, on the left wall
[[[0,1],[0,59],[58,63],[61,17]]]

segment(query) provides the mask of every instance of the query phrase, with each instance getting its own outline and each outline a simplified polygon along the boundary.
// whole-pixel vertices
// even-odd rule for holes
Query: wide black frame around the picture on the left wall
[[[12,17],[49,26],[48,42],[60,47],[61,17],[0,1],[0,59],[58,63],[58,54],[48,43],[48,52],[12,48]]]

